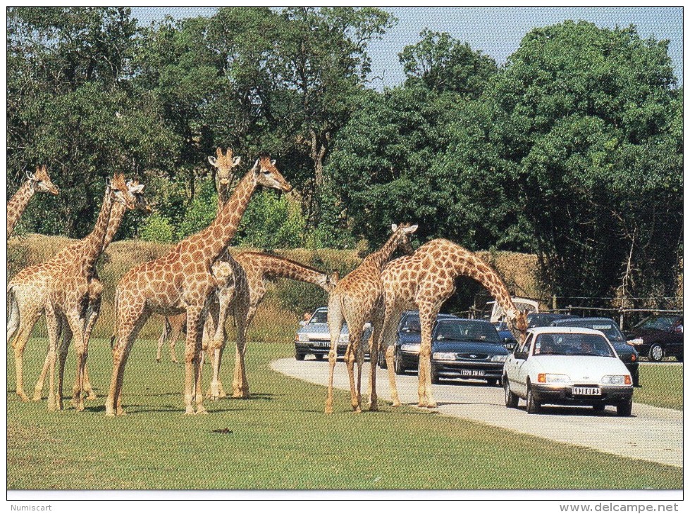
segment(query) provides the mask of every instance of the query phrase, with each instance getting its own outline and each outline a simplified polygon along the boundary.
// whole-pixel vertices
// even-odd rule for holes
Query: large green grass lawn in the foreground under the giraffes
[[[32,339],[25,389],[33,389],[46,341]],[[73,349],[66,394],[75,375]],[[181,352],[180,352],[181,353]],[[234,351],[223,370],[230,389]],[[8,489],[681,489],[682,469],[620,458],[411,407],[353,415],[349,393],[269,370],[292,345],[251,344],[252,399],[206,402],[183,416],[183,365],[156,364],[138,341],[125,372],[128,415],[106,418],[109,344],[95,339],[89,367],[99,399],[87,410],[48,413],[15,394],[8,348]],[[204,370],[208,384],[209,367]],[[643,371],[643,389],[651,391]],[[639,398],[638,398],[639,399]],[[221,432],[214,432],[221,430]]]

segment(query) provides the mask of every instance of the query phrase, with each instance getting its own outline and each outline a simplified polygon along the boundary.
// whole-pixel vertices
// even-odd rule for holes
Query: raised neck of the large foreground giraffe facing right
[[[225,203],[216,219],[211,222],[211,225],[196,236],[190,237],[190,240],[205,243],[202,246],[204,248],[204,263],[208,269],[211,268],[211,265],[226,250],[226,247],[235,237],[242,215],[247,210],[249,201],[252,199],[252,194],[254,194],[256,188],[257,180],[254,170],[251,169],[242,177],[238,187],[235,187],[233,195],[230,196],[230,199]]]

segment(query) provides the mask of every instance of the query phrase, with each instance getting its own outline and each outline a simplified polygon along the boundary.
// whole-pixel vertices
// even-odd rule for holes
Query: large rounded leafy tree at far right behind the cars
[[[566,22],[524,37],[498,76],[503,173],[548,285],[564,296],[673,287],[682,104],[667,42]]]

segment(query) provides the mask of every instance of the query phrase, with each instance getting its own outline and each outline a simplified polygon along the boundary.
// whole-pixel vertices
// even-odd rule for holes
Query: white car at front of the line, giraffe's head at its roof
[[[505,406],[527,402],[528,413],[544,403],[607,405],[619,416],[632,412],[632,377],[605,335],[579,327],[538,327],[527,331],[522,344],[503,366]]]

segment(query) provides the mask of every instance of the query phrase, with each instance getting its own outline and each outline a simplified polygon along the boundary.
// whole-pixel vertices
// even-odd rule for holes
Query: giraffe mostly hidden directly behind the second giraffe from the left
[[[144,184],[140,184],[140,182],[138,182],[137,180],[128,180],[127,187],[130,194],[132,194],[135,198],[135,208],[137,208],[140,211],[144,211],[144,213],[151,213],[152,208],[151,206],[149,206],[149,203],[147,199],[144,197],[144,194],[142,194]],[[113,241],[113,238],[117,234],[118,230],[120,229],[120,225],[122,225],[123,219],[125,218],[126,210],[127,209],[125,207],[125,204],[121,202],[113,203],[113,206],[111,207],[110,211],[110,220],[108,222],[108,228],[106,230],[106,235],[104,237],[101,252],[106,251],[109,244]],[[91,339],[91,332],[94,328],[94,325],[96,324],[96,321],[101,311],[102,293],[103,284],[101,283],[101,280],[98,276],[98,271],[94,269],[94,276],[89,284],[89,303],[87,307],[87,315],[85,316],[87,322],[84,329],[84,344],[87,348],[89,346],[89,341]],[[63,332],[63,341],[58,353],[58,361],[60,364],[58,371],[58,382],[61,381],[63,377],[63,373],[65,370],[65,361],[67,359],[67,351],[72,338],[72,333],[70,332],[68,325],[65,325],[63,327]],[[36,385],[34,387],[34,401],[39,401],[41,399],[45,377],[49,371],[50,361],[51,355],[50,352],[48,352],[43,363],[43,370],[41,371],[41,375],[39,376],[39,379],[37,380]],[[89,380],[89,372],[86,366],[84,370],[84,390],[88,395],[87,400],[94,400],[97,398],[91,386],[91,381]]]

